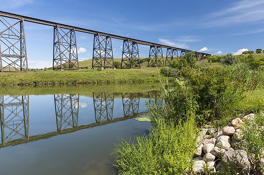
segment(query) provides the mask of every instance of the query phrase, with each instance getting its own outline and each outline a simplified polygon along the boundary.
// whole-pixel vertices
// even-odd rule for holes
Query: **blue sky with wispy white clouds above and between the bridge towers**
[[[264,48],[263,0],[0,0],[1,11],[211,54]],[[25,22],[30,68],[51,67],[53,28]],[[77,32],[79,60],[92,58],[93,35]],[[112,39],[115,58],[122,40]],[[139,45],[140,57],[149,46]],[[166,54],[166,49],[163,49]]]

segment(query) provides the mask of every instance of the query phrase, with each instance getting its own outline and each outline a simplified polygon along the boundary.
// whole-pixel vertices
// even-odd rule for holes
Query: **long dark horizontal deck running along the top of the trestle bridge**
[[[49,26],[53,26],[53,27],[56,26],[56,25],[60,25],[61,28],[63,28],[63,29],[69,29],[69,30],[71,30],[72,28],[75,28],[75,31],[78,31],[78,32],[84,32],[84,33],[89,33],[89,34],[97,34],[97,33],[100,33],[100,35],[102,35],[102,36],[109,36],[110,35],[114,39],[122,39],[122,40],[129,39],[130,41],[137,42],[138,44],[143,44],[143,45],[148,45],[148,46],[156,45],[156,46],[159,46],[159,47],[162,47],[162,48],[173,48],[173,49],[177,49],[179,51],[191,51],[191,50],[187,50],[187,49],[176,48],[176,47],[167,46],[167,45],[163,45],[163,44],[157,44],[157,43],[147,42],[147,41],[143,41],[143,40],[139,40],[139,39],[127,38],[127,37],[124,37],[124,36],[112,35],[112,34],[100,32],[100,31],[89,30],[89,29],[85,29],[85,28],[81,28],[81,27],[75,27],[75,26],[71,26],[71,25],[64,25],[64,24],[60,24],[60,23],[56,23],[56,22],[52,22],[52,21],[41,20],[41,19],[37,19],[37,18],[32,18],[32,17],[28,17],[28,16],[17,15],[17,14],[3,12],[3,11],[0,11],[0,15],[1,16],[5,16],[5,17],[8,17],[8,18],[18,19],[18,20],[21,19],[21,18],[23,18],[24,21],[27,21],[27,22],[33,22],[33,23],[42,24],[42,25],[49,25]],[[202,55],[211,55],[211,54],[202,53],[202,52],[195,52],[195,53],[201,53]]]

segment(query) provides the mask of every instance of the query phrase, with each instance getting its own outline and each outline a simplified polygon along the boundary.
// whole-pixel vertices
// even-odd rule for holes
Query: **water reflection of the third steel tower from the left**
[[[115,93],[92,93],[95,122],[109,121],[113,119],[113,107]]]

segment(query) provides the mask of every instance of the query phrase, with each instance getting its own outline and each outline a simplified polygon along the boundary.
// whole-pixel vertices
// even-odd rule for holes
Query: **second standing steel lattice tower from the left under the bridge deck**
[[[53,70],[79,69],[75,29],[54,26]]]

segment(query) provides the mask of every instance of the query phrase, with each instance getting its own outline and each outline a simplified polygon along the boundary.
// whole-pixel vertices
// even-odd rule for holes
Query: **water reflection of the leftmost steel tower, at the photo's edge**
[[[0,97],[2,145],[25,138],[28,140],[29,95]]]

